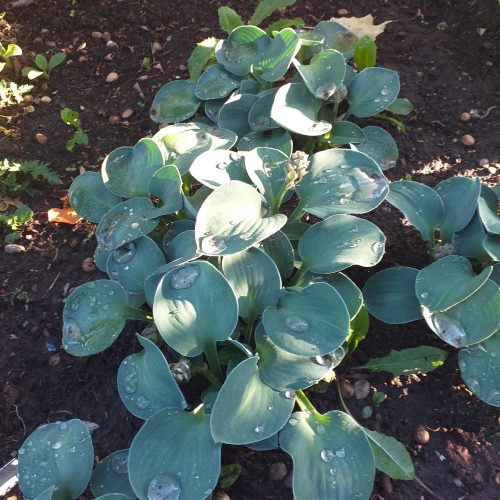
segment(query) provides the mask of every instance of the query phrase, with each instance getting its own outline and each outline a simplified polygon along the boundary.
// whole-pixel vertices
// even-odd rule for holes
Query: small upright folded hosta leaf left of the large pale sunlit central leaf
[[[182,208],[182,179],[174,165],[157,170],[149,183],[149,194],[156,196],[162,205],[151,211],[150,217],[173,214]]]

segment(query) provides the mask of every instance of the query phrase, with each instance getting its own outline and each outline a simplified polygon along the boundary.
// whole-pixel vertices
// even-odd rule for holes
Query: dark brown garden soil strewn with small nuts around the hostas
[[[83,260],[93,255],[93,225],[48,223],[46,212],[61,206],[60,198],[80,171],[98,171],[111,150],[134,144],[154,130],[147,111],[154,93],[167,81],[186,77],[186,59],[196,41],[212,34],[222,36],[217,8],[227,3],[248,14],[257,1],[78,0],[74,17],[69,16],[68,0],[38,0],[30,7],[7,9],[0,41],[17,39],[25,54],[65,51],[68,60],[55,70],[48,86],[35,81],[34,112],[15,106],[3,109],[1,114],[8,116],[0,117],[0,125],[11,134],[0,132],[0,158],[50,161],[62,181],[60,187],[45,189],[35,199],[22,200],[35,210],[35,220],[19,242],[26,252],[8,255],[2,250],[0,254],[0,465],[14,457],[27,434],[45,422],[78,417],[98,424],[93,440],[100,459],[127,447],[141,424],[122,405],[115,382],[121,360],[138,350],[134,325],[96,356],[75,358],[61,348],[64,298],[73,287],[100,273],[82,269]],[[4,10],[5,3],[1,4]],[[299,0],[297,4],[288,17],[302,16],[309,25],[337,15],[338,9],[348,9],[354,16],[372,13],[377,22],[394,20],[378,39],[378,65],[400,73],[402,96],[414,103],[415,112],[407,120],[406,134],[383,124],[400,150],[397,167],[388,172],[391,180],[411,174],[414,180],[433,186],[458,174],[498,182],[500,9],[496,0]],[[102,39],[93,38],[95,31],[109,32],[116,45],[109,48]],[[160,47],[151,56],[155,42]],[[141,69],[145,56],[154,57],[150,70]],[[105,83],[112,71],[119,79]],[[43,96],[51,97],[51,103],[40,102]],[[70,130],[59,118],[66,106],[80,111],[89,135],[89,145],[77,146],[73,153],[65,149]],[[123,119],[127,109],[133,114]],[[462,122],[460,114],[470,110],[477,110],[481,118]],[[111,119],[117,123],[110,124],[110,117],[118,117]],[[47,137],[46,144],[35,140],[37,133]],[[462,145],[463,134],[471,134],[476,145]],[[397,211],[384,203],[369,218],[388,238],[380,266],[428,263],[425,245],[416,231],[401,223]],[[376,270],[357,268],[350,275],[361,286]],[[372,390],[387,394],[366,420],[361,410],[371,396],[347,400],[347,405],[368,427],[401,440],[415,463],[418,481],[391,482],[379,474],[374,498],[500,498],[500,413],[465,388],[452,349],[444,366],[428,376],[393,378],[385,372],[352,369],[368,357],[388,354],[391,348],[422,344],[446,349],[423,322],[391,326],[372,320],[367,339],[338,374],[352,382],[365,378]],[[334,385],[311,398],[320,411],[340,408]],[[430,433],[427,444],[414,439],[418,425]],[[289,477],[270,477],[272,464],[283,462],[291,470],[286,454],[228,446],[223,461],[243,468],[228,492],[231,498],[292,497]]]

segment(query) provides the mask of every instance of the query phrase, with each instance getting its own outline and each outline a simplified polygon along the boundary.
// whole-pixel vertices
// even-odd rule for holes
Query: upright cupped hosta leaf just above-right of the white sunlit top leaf
[[[318,99],[329,99],[344,80],[345,59],[334,49],[318,52],[308,65],[300,64],[297,60],[294,60],[294,64],[311,94]]]

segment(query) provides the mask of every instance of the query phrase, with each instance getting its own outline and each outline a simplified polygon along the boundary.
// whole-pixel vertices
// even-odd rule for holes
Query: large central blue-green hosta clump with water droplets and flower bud
[[[81,422],[38,429],[20,450],[28,497],[75,497],[90,478],[98,497],[203,499],[224,443],[290,454],[297,499],[368,498],[375,468],[413,477],[395,439],[320,414],[305,392],[332,380],[366,333],[343,271],[384,253],[385,236],[359,215],[387,197],[397,150],[384,129],[347,118],[389,108],[399,80],[357,73],[346,62],[355,42],[334,22],[271,35],[238,26],[197,81],[159,90],[155,135],[75,179],[71,204],[98,224],[95,261],[109,279],[67,298],[63,346],[92,355],[127,319],[149,323],[117,374],[145,422],[92,477]],[[189,410],[179,383],[194,376],[209,386]]]

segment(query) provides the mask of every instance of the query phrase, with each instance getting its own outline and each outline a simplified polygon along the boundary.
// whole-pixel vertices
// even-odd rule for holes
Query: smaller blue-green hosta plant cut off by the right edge
[[[500,406],[499,186],[452,177],[434,189],[418,182],[390,186],[387,201],[429,243],[432,263],[372,276],[363,294],[386,323],[425,319],[459,349],[462,378],[483,401]],[[437,236],[437,238],[436,238]]]

